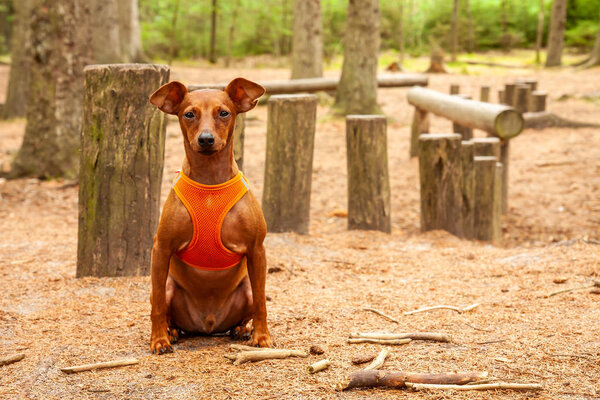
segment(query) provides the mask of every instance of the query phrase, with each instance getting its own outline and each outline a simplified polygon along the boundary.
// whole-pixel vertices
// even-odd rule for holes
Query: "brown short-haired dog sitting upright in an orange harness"
[[[236,115],[254,108],[264,92],[237,78],[224,91],[188,92],[170,82],[150,96],[161,111],[179,118],[186,154],[152,247],[153,353],[171,352],[180,330],[243,336],[251,319],[250,344],[271,346],[266,223],[233,157]],[[198,199],[186,198],[190,193]],[[204,208],[195,210],[196,203]]]

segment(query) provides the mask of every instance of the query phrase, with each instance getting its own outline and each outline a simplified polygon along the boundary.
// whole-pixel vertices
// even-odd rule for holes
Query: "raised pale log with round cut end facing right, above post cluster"
[[[515,137],[523,130],[523,116],[504,105],[465,100],[421,87],[409,89],[407,98],[411,105],[424,111],[501,139]]]

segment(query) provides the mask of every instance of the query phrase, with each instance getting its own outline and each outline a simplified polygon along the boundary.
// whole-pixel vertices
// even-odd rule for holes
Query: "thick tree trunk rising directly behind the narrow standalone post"
[[[379,0],[350,0],[344,36],[344,64],[335,104],[336,114],[380,114],[377,105]]]

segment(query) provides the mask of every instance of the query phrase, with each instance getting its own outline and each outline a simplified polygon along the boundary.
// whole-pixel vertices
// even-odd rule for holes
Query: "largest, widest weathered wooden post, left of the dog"
[[[166,127],[148,96],[169,67],[90,65],[84,75],[77,277],[147,275]]]

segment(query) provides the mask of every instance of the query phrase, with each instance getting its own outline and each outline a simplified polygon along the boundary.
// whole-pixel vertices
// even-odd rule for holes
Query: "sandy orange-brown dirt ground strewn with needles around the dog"
[[[490,70],[432,75],[430,87],[459,83],[478,97],[491,85],[539,79],[549,109],[600,123],[600,69]],[[0,66],[0,82],[8,68]],[[335,74],[335,72],[331,72]],[[285,79],[285,69],[174,68],[186,83]],[[0,89],[3,98],[5,86]],[[596,96],[596,102],[581,99]],[[20,179],[0,183],[0,357],[24,360],[0,367],[0,398],[32,399],[599,399],[600,295],[589,289],[547,297],[600,279],[600,130],[527,130],[512,143],[509,212],[503,244],[421,233],[417,160],[409,159],[412,110],[406,89],[380,90],[389,117],[392,234],[347,231],[344,121],[319,107],[310,234],[269,234],[266,240],[270,330],[279,348],[319,345],[322,356],[233,366],[228,337],[185,338],[173,354],[149,354],[150,280],[75,279],[77,186]],[[20,146],[24,121],[0,122],[0,165]],[[433,132],[449,121],[432,119]],[[266,107],[250,112],[245,173],[260,198]],[[183,157],[175,121],[168,126],[163,199]],[[482,135],[481,132],[477,134]],[[564,283],[557,283],[564,282]],[[480,306],[467,313],[403,312],[447,304]],[[365,307],[396,317],[393,323]],[[507,382],[537,382],[537,393],[336,392],[359,366],[353,356],[375,344],[347,344],[351,332],[436,331],[450,343],[414,341],[391,349],[385,369],[412,372],[487,371]],[[137,357],[138,365],[66,375],[59,368]],[[332,366],[309,375],[322,358]]]

